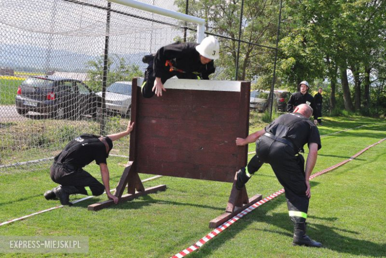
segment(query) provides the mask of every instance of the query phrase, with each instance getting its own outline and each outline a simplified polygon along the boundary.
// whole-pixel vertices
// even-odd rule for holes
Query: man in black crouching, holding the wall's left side
[[[107,136],[82,134],[69,142],[64,150],[55,156],[50,169],[52,181],[60,185],[47,191],[44,197],[47,200],[57,198],[62,205],[72,205],[69,202],[71,194],[98,196],[106,191],[107,197],[117,204],[118,198],[110,193],[106,158],[113,148],[112,142],[129,135],[133,128],[134,122],[129,121],[127,129],[123,132]],[[83,167],[94,160],[100,167],[103,184],[83,170]]]

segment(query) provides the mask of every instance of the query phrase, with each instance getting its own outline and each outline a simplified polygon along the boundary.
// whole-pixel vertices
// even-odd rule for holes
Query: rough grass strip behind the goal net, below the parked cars
[[[124,130],[128,121],[124,118],[107,118],[106,134]],[[98,134],[100,126],[97,121],[91,119],[81,121],[28,119],[1,123],[0,125],[3,146],[0,148],[0,165],[57,155],[70,140],[82,134],[85,128],[87,128],[88,133]],[[129,138],[118,140],[114,143],[111,154],[127,155],[128,143]]]

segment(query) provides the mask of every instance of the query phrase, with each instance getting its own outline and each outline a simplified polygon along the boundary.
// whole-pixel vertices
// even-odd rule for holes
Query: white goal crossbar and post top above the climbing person
[[[201,43],[204,39],[205,19],[191,16],[185,13],[171,11],[151,4],[143,3],[136,0],[110,0],[111,2],[123,4],[133,8],[141,9],[148,12],[157,13],[160,15],[172,17],[182,21],[192,22],[197,24],[197,43]]]

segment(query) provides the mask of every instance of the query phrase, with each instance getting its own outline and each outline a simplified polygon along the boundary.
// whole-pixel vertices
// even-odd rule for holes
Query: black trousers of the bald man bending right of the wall
[[[307,186],[303,156],[296,155],[292,147],[263,135],[256,143],[256,155],[247,165],[248,172],[255,173],[263,163],[271,165],[284,187],[288,210],[307,213],[309,199],[305,194]],[[291,216],[291,219],[295,222],[305,221],[305,218],[299,216]]]

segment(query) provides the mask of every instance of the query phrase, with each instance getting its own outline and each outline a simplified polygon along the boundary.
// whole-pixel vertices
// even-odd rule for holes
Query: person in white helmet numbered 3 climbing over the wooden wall
[[[145,55],[148,63],[142,95],[151,98],[166,92],[163,84],[173,76],[179,79],[209,79],[214,73],[213,60],[218,59],[220,44],[213,36],[198,43],[174,43],[160,48],[155,55]]]

